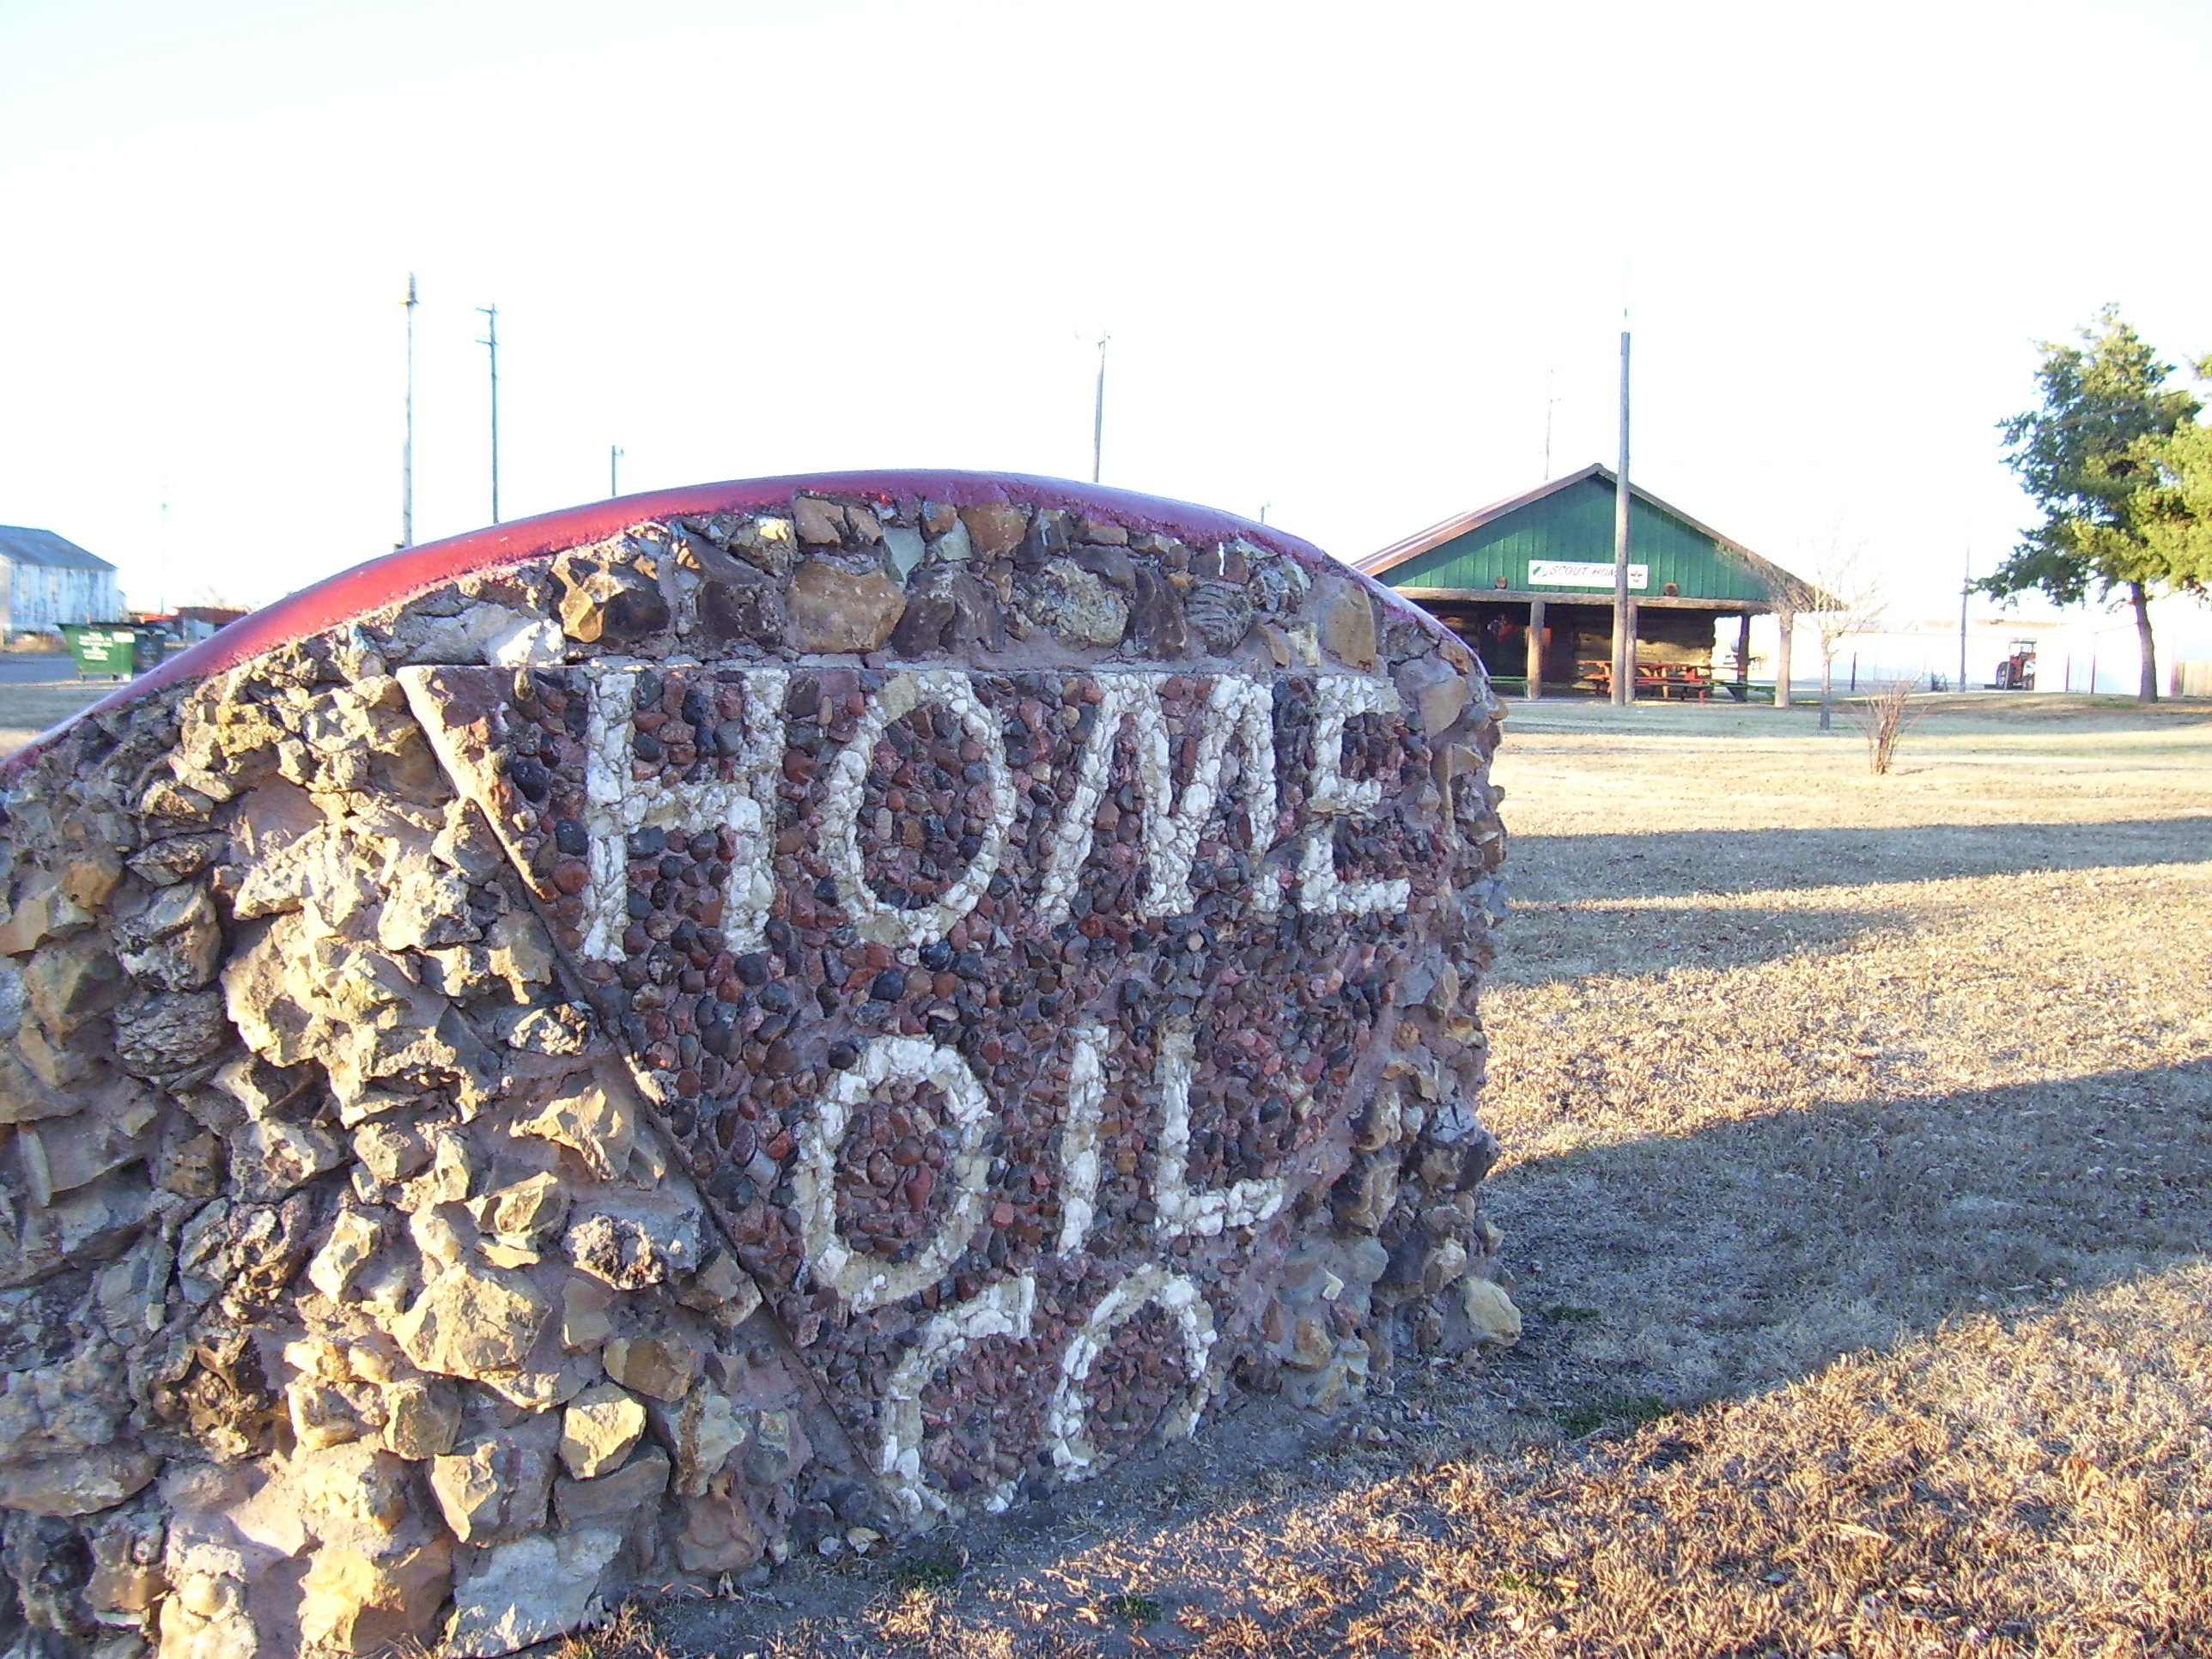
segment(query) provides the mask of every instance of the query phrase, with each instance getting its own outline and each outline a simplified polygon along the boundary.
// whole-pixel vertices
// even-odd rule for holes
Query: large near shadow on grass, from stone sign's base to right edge
[[[1619,1431],[1785,1387],[1953,1316],[2026,1316],[2066,1292],[2201,1256],[2212,1237],[2212,1062],[1838,1102],[1577,1150],[1502,1170],[1486,1210],[1506,1225],[1506,1263],[1522,1274],[1520,1347],[1471,1376],[1413,1371],[1405,1400],[1380,1402],[1378,1416],[1409,1411],[1451,1438],[1471,1433],[1425,1455],[1522,1467],[1517,1449],[1482,1449],[1478,1418],[1500,1387],[1522,1398],[1524,1420],[1533,1409],[1568,1436]],[[931,1615],[914,1637],[885,1641],[880,1626],[854,1619],[911,1593],[898,1568],[823,1575],[814,1595],[801,1579],[776,1613],[670,1608],[664,1628],[688,1652],[936,1659],[975,1652],[964,1644],[982,1632],[1002,1641],[991,1652],[1126,1655],[1139,1610],[1239,1601],[1234,1571],[1221,1577],[1181,1548],[1192,1528],[1241,1513],[1265,1535],[1314,1502],[1316,1475],[1323,1489],[1358,1491],[1413,1458],[1336,1462],[1338,1444],[1323,1462],[1239,1433],[1232,1416],[1194,1447],[964,1524],[971,1573],[929,1586],[958,1608],[942,1632]],[[1692,1447],[1661,1442],[1650,1467],[1688,1455]],[[1270,1480],[1287,1464],[1307,1480]],[[1279,1548],[1296,1555],[1314,1540],[1285,1535]],[[1022,1604],[1031,1613],[1018,1615]],[[1071,1621],[1073,1608],[1088,1608],[1086,1621]],[[1248,1635],[1274,1652],[1332,1652],[1349,1615],[1321,1595]],[[1298,1617],[1312,1644],[1274,1628]],[[779,1628],[790,1646],[772,1646]]]

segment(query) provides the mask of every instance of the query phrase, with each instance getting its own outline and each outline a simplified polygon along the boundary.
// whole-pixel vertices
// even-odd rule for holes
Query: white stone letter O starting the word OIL
[[[836,1230],[838,1144],[854,1108],[865,1106],[889,1082],[936,1084],[945,1093],[947,1128],[958,1133],[947,1166],[951,1197],[936,1232],[907,1261],[896,1263],[854,1252]],[[938,1283],[982,1221],[982,1192],[991,1172],[984,1139],[993,1117],[991,1099],[967,1060],[922,1037],[876,1037],[852,1071],[836,1073],[799,1133],[799,1164],[792,1170],[799,1234],[816,1283],[834,1290],[854,1312],[905,1301]]]

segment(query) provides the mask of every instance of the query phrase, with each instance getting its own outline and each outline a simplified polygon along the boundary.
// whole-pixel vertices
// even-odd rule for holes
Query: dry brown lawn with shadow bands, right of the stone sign
[[[2212,1652],[2212,706],[1933,701],[1513,708],[1517,1347],[562,1652]]]

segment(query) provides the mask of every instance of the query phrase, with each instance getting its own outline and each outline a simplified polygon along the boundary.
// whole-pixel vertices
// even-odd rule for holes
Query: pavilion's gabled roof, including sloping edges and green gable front
[[[1528,566],[1535,560],[1604,564],[1606,571],[1588,586],[1533,582]],[[1683,599],[1765,608],[1785,584],[1796,582],[1741,542],[1699,524],[1635,484],[1628,507],[1628,560],[1648,566],[1648,582],[1635,597],[1663,595],[1672,582]],[[1394,588],[1484,593],[1504,586],[1559,599],[1575,593],[1610,599],[1613,471],[1584,467],[1524,495],[1444,520],[1367,555],[1358,568]]]

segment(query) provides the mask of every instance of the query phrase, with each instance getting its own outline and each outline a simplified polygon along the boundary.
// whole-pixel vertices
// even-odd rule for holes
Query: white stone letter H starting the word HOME
[[[584,728],[584,801],[591,847],[584,887],[584,956],[622,956],[622,933],[630,922],[630,834],[646,827],[732,830],[737,856],[723,896],[723,931],[730,949],[754,951],[768,907],[774,902],[770,852],[774,836],[774,774],[783,739],[783,692],[790,672],[761,668],[743,677],[745,748],[734,757],[728,781],[684,783],[659,779],[653,787],[630,781],[630,714],[637,701],[637,666],[591,664],[591,721]]]

